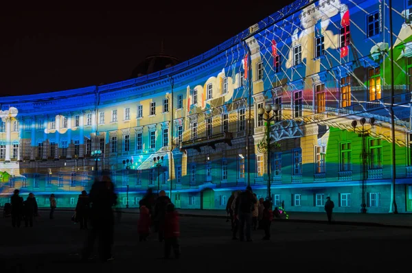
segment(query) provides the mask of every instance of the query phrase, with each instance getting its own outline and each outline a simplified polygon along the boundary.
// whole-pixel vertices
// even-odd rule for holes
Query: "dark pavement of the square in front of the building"
[[[78,253],[87,231],[70,212],[47,216],[19,229],[0,218],[1,272],[403,272],[411,264],[410,229],[273,222],[271,241],[257,230],[249,243],[232,241],[225,219],[205,217],[181,217],[181,259],[163,260],[157,234],[139,243],[130,213],[115,227],[115,260],[85,264]]]

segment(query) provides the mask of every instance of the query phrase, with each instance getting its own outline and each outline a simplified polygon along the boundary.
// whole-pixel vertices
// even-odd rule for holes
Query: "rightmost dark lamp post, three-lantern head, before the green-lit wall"
[[[366,213],[366,198],[365,198],[365,192],[366,192],[366,180],[367,180],[367,160],[369,158],[369,153],[367,152],[366,149],[366,139],[369,137],[369,130],[365,130],[365,123],[366,119],[363,117],[361,120],[359,120],[361,123],[362,129],[358,130],[358,137],[362,138],[362,152],[361,152],[361,160],[362,160],[362,204],[361,204],[361,213]],[[369,119],[369,124],[371,126],[374,126],[375,124],[375,119],[372,117]],[[358,121],[352,121],[352,127],[354,128],[354,132],[356,132],[356,126],[358,126]]]

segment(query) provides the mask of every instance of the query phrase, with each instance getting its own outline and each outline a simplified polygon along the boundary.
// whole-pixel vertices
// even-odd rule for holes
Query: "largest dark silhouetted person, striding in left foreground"
[[[112,206],[117,204],[117,195],[110,174],[103,174],[100,179],[95,180],[89,193],[89,202],[92,230],[87,237],[80,259],[82,261],[90,259],[95,239],[98,237],[100,260],[111,261],[115,224]]]

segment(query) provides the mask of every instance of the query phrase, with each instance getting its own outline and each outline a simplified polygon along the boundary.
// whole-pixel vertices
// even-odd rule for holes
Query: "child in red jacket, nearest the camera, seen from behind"
[[[166,207],[165,215],[165,259],[170,257],[170,250],[173,248],[174,257],[179,259],[180,246],[179,246],[179,213],[174,209],[174,204],[170,203]]]

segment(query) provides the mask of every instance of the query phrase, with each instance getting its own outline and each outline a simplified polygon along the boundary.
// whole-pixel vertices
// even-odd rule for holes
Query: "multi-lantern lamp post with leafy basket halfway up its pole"
[[[278,143],[271,143],[271,122],[272,121],[278,121],[277,119],[277,112],[279,111],[279,104],[273,104],[273,106],[266,105],[264,108],[259,108],[258,109],[258,115],[260,116],[261,119],[266,121],[266,141],[262,141],[261,143],[258,143],[258,150],[260,152],[266,152],[267,153],[267,169],[268,169],[268,189],[267,189],[267,200],[271,201],[271,150],[273,150],[275,147],[279,147]],[[264,117],[264,114],[266,112],[266,118]],[[274,115],[271,116],[271,112],[273,112]]]

